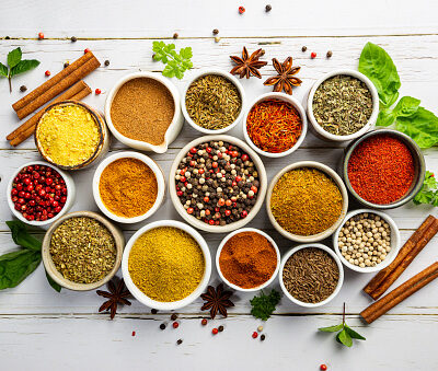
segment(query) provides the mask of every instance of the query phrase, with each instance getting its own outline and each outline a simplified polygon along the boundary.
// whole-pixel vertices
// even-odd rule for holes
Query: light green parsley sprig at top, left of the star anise
[[[164,44],[164,42],[153,42],[152,50],[153,59],[161,60],[165,67],[162,72],[166,78],[182,79],[184,72],[193,67],[191,58],[193,57],[192,48],[186,47],[175,51],[175,44]]]

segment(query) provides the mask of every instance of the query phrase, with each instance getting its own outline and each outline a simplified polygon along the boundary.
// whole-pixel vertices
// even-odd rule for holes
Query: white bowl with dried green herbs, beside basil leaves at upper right
[[[359,138],[376,124],[378,114],[376,86],[355,70],[332,71],[319,79],[309,92],[310,128],[324,140]]]

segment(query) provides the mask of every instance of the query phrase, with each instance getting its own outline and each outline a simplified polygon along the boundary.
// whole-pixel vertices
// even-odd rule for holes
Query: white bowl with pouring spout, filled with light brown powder
[[[130,73],[116,82],[105,101],[114,137],[141,151],[164,153],[183,127],[176,86],[153,72]]]

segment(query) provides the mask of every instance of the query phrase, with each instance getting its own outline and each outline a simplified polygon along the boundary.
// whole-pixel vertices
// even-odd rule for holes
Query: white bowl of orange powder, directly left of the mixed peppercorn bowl
[[[137,223],[152,216],[164,199],[161,167],[138,152],[112,154],[100,163],[93,196],[101,211],[120,223]]]

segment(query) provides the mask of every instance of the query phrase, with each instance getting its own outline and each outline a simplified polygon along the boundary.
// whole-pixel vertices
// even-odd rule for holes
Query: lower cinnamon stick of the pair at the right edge
[[[366,310],[360,312],[360,315],[368,324],[370,324],[436,278],[438,278],[438,262],[435,262],[433,265],[392,290],[382,299],[372,303]]]

